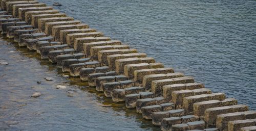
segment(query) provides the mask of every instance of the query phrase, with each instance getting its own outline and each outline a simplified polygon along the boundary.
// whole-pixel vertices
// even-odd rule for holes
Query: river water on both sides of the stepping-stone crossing
[[[256,110],[256,1],[40,0]],[[35,52],[0,41],[0,119],[8,130],[159,130]],[[46,76],[55,80],[47,82]],[[37,84],[41,81],[41,84]],[[55,89],[61,84],[67,89]],[[33,92],[42,96],[31,98]],[[111,104],[111,106],[109,105]]]

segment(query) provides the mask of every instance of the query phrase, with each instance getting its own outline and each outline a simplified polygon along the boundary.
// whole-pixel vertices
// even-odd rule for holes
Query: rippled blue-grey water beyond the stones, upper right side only
[[[256,1],[40,0],[256,109]]]

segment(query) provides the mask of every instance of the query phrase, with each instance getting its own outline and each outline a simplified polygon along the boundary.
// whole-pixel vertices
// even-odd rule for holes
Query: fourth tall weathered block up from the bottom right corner
[[[215,127],[217,115],[232,113],[232,112],[242,112],[242,111],[248,111],[248,110],[249,110],[249,108],[245,104],[237,104],[234,106],[209,108],[209,109],[205,110],[204,120],[207,123],[207,128]]]

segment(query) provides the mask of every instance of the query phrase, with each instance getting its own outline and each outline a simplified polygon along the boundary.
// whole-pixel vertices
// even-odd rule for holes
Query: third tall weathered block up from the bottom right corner
[[[217,115],[216,127],[220,130],[227,130],[228,122],[234,120],[244,120],[245,115],[241,112]]]

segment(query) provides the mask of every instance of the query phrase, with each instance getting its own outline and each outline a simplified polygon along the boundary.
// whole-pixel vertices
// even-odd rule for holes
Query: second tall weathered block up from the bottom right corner
[[[235,120],[235,121],[229,121],[227,130],[228,131],[239,131],[242,127],[247,127],[247,126],[254,126],[255,121],[253,120]]]

